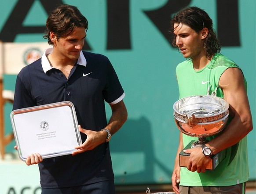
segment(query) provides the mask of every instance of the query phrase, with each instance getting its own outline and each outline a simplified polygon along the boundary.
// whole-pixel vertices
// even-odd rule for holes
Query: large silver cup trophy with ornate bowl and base
[[[173,115],[178,129],[188,136],[198,137],[184,149],[201,147],[207,143],[206,137],[220,133],[227,124],[228,108],[227,101],[213,95],[195,95],[176,101]],[[224,151],[216,154],[207,169],[214,169],[225,155]],[[189,154],[182,151],[179,156],[180,166],[187,167]]]

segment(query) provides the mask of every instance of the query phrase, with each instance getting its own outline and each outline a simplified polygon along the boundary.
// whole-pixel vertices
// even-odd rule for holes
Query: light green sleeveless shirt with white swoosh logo
[[[219,79],[227,68],[239,68],[238,65],[222,54],[216,53],[212,61],[200,71],[195,71],[191,60],[180,63],[176,68],[176,76],[179,86],[179,98],[192,95],[206,95],[212,92],[222,97],[223,92],[218,87]],[[244,79],[245,88],[247,83]],[[208,89],[209,92],[208,92]],[[234,91],[235,93],[235,91]],[[229,118],[230,119],[230,118]],[[214,137],[209,137],[210,140]],[[183,144],[186,146],[191,140],[183,134]],[[186,167],[181,168],[180,185],[182,186],[230,186],[246,182],[249,179],[247,137],[238,144],[226,149],[226,158],[214,170],[206,172],[191,172]]]

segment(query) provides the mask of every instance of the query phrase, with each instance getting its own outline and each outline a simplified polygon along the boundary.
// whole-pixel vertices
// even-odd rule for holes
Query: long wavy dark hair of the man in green
[[[206,57],[211,59],[216,52],[220,52],[221,47],[219,40],[216,37],[216,32],[213,29],[212,19],[209,15],[198,7],[187,7],[180,11],[178,14],[174,15],[171,20],[171,30],[170,32],[174,32],[174,24],[175,23],[183,23],[190,26],[196,32],[200,32],[201,29],[208,29],[208,36],[203,40],[204,48],[206,51]],[[176,46],[176,36],[172,36],[171,40],[172,46]]]

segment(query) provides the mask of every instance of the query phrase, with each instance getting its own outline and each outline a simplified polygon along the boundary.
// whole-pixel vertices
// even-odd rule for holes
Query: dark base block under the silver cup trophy
[[[194,140],[190,141],[189,144],[184,148],[184,150],[191,148],[191,145],[194,143]],[[179,166],[180,167],[187,167],[189,161],[190,154],[181,151],[179,153]],[[207,165],[206,169],[214,170],[217,165],[226,157],[226,150],[220,151],[219,153],[215,154],[211,159],[211,162]]]

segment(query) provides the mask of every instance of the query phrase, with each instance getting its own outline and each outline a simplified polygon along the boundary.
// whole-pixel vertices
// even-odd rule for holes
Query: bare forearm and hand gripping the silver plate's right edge
[[[112,110],[112,115],[105,129],[108,129],[111,135],[113,135],[121,128],[121,126],[127,120],[127,110],[124,105],[124,101],[120,101],[117,104],[110,105],[110,107]],[[87,150],[92,150],[99,144],[106,142],[107,132],[105,130],[92,131],[88,129],[82,129],[81,126],[79,126],[79,130],[81,133],[87,135],[87,139],[82,145],[75,147],[77,151],[74,151],[72,155],[79,154]]]

